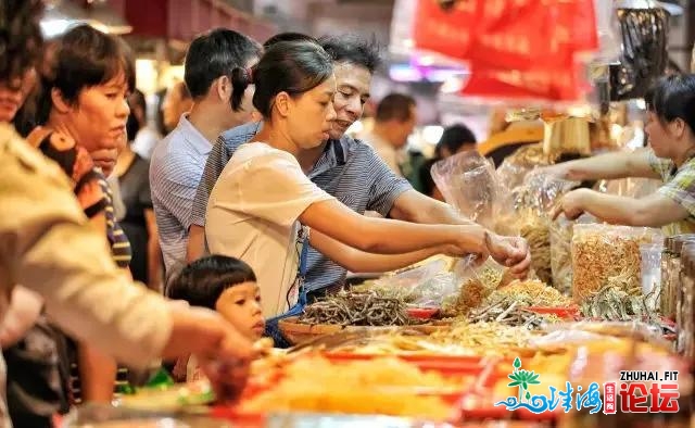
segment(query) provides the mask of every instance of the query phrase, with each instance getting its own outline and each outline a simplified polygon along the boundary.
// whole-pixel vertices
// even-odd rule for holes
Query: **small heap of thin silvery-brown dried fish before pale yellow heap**
[[[470,323],[500,323],[534,330],[546,323],[557,323],[560,319],[554,315],[540,315],[523,309],[514,299],[504,299],[485,307],[477,309],[468,315]]]

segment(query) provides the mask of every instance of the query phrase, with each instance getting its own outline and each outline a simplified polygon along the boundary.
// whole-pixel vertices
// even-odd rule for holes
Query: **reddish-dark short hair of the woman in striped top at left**
[[[53,88],[61,91],[66,102],[75,103],[84,89],[105,84],[123,73],[128,90],[135,89],[135,62],[128,46],[119,37],[89,25],[78,25],[63,35],[50,73],[42,79],[39,124],[48,121]]]

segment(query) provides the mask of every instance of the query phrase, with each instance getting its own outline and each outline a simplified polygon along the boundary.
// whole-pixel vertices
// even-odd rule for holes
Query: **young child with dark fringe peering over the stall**
[[[210,255],[187,265],[170,281],[166,294],[191,306],[207,307],[220,313],[250,340],[258,340],[265,330],[261,310],[261,290],[253,269],[239,259]],[[178,372],[180,364],[177,363]],[[186,364],[186,363],[185,363]],[[190,358],[185,365],[186,379],[200,377],[198,364]]]

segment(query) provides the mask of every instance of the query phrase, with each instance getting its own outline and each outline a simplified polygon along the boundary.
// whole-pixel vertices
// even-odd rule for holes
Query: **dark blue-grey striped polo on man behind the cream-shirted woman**
[[[207,201],[217,178],[242,143],[251,140],[260,124],[247,124],[223,133],[213,146],[193,200],[189,224],[205,226]],[[308,178],[321,190],[338,199],[355,212],[376,211],[388,216],[395,200],[410,184],[397,177],[377,155],[361,141],[343,136],[330,140]],[[206,235],[213,231],[205,231]],[[346,270],[319,253],[308,249],[305,285],[308,291],[342,285]]]

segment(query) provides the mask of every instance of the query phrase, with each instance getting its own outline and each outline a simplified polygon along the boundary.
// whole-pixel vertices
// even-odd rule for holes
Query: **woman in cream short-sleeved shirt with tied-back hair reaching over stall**
[[[308,179],[298,158],[320,148],[336,117],[332,60],[317,43],[279,42],[253,71],[237,68],[233,76],[235,91],[255,85],[253,104],[264,125],[236,151],[215,185],[205,237],[212,253],[241,259],[257,274],[270,328],[303,309],[306,238],[355,272],[389,270],[437,253],[492,255],[518,274],[528,268],[526,248],[511,247],[478,225],[368,218]]]

